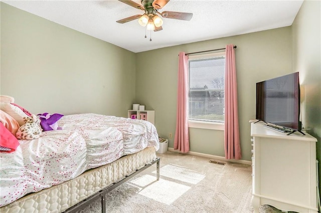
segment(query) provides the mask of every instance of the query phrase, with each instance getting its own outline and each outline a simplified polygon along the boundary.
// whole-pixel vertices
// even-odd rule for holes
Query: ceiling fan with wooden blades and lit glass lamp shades
[[[159,31],[162,30],[163,18],[174,18],[180,20],[191,20],[193,13],[190,12],[175,12],[175,11],[163,11],[158,12],[158,9],[162,9],[170,0],[141,0],[141,5],[132,0],[119,0],[129,6],[135,7],[145,12],[137,15],[132,15],[120,20],[118,23],[126,23],[131,20],[138,19],[138,23],[142,26],[147,26],[147,30]]]

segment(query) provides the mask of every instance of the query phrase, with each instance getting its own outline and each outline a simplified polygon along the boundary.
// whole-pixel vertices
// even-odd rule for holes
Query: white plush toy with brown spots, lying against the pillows
[[[42,128],[40,126],[40,119],[37,115],[32,114],[30,117],[24,117],[26,121],[25,124],[20,126],[16,133],[18,139],[37,139],[42,133]]]

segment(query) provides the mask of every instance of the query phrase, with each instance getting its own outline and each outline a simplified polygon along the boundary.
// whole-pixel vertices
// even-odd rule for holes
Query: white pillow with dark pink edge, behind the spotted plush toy
[[[25,108],[16,103],[0,103],[0,109],[15,118],[19,125],[25,124],[24,117],[30,117],[32,114]]]

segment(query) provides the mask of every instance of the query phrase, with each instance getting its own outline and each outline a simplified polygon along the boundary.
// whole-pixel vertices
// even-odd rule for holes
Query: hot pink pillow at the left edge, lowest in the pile
[[[0,122],[0,151],[12,152],[18,145],[18,139]]]

